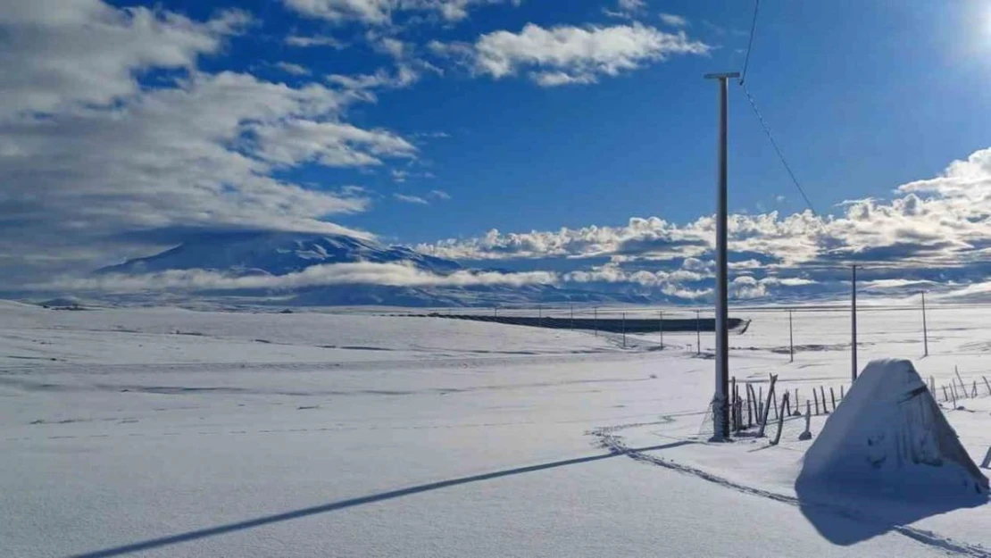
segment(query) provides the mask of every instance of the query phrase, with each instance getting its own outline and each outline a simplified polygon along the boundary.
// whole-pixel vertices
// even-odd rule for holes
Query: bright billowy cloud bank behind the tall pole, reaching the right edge
[[[730,215],[729,248],[744,256],[731,267],[817,270],[850,262],[947,272],[979,267],[991,256],[991,149],[950,164],[936,178],[901,186],[890,201],[854,200],[841,207],[839,215],[819,217],[808,211]],[[621,227],[493,230],[479,238],[420,248],[467,260],[606,257],[649,262],[711,257],[714,238],[711,216],[685,225],[651,217],[633,218]]]

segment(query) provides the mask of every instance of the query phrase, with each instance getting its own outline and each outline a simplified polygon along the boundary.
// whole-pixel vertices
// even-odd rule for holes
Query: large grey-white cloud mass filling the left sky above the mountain
[[[0,261],[21,265],[4,266],[7,282],[145,255],[196,230],[367,236],[326,220],[365,210],[365,195],[276,171],[416,157],[397,135],[344,121],[370,100],[361,92],[199,70],[251,24],[244,13],[197,22],[100,0],[8,4]],[[140,83],[152,70],[164,73]]]

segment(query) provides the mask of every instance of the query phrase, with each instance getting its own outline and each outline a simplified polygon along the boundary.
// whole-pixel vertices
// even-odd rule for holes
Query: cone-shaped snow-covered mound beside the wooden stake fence
[[[867,365],[806,453],[799,483],[906,500],[988,491],[908,360]]]

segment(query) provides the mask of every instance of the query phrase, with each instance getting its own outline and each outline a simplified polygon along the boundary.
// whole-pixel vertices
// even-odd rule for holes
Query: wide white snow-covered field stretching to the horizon
[[[849,388],[847,314],[797,313],[794,363],[786,314],[733,315],[738,381]],[[985,312],[933,309],[925,359],[914,313],[860,330],[861,366],[978,383],[946,415],[980,462]],[[0,555],[991,556],[987,504],[804,501],[803,419],[705,443],[695,339],[0,302]]]

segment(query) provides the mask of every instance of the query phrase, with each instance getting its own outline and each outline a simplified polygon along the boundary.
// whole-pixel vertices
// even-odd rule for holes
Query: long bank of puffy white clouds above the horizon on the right
[[[729,268],[733,295],[753,298],[780,289],[832,288],[848,279],[850,264],[866,266],[868,291],[905,291],[932,281],[961,284],[991,273],[991,149],[951,163],[934,178],[910,182],[890,200],[846,201],[837,215],[811,212],[730,215]],[[606,259],[612,267],[583,270],[576,281],[629,282],[704,288],[711,284],[715,221],[686,224],[658,217],[624,226],[562,228],[441,241],[418,248],[469,261],[582,262]],[[502,264],[498,264],[502,265]],[[586,264],[588,267],[589,264]],[[707,276],[674,278],[672,270]],[[649,275],[646,275],[646,274]],[[749,277],[750,279],[743,279]],[[930,281],[930,282],[927,282]],[[845,287],[844,287],[845,288]],[[772,290],[774,289],[774,290]],[[964,295],[976,296],[976,290]]]

